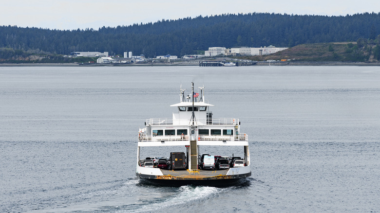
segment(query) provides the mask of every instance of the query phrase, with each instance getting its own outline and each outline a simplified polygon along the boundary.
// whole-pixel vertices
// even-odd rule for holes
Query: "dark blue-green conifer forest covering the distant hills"
[[[56,30],[0,26],[0,48],[34,53],[195,54],[209,47],[293,47],[303,43],[376,39],[380,13],[346,16],[223,14],[129,26]]]

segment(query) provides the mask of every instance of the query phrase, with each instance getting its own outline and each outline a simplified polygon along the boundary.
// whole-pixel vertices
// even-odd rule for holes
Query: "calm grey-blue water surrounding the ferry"
[[[135,178],[191,82],[249,135],[236,186]],[[0,212],[379,212],[379,130],[379,67],[0,67]]]

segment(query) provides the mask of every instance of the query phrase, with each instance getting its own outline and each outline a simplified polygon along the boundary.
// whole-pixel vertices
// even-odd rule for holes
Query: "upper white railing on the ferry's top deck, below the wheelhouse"
[[[189,123],[190,120],[176,120],[178,124]],[[197,124],[208,125],[236,125],[239,124],[239,119],[236,118],[208,118],[208,119],[195,119]],[[172,118],[151,118],[146,120],[146,124],[155,125],[173,125]]]

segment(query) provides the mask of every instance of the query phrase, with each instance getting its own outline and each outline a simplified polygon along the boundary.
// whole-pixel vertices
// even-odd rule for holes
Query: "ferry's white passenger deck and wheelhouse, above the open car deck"
[[[210,105],[204,102],[203,88],[201,96],[194,93],[193,101],[185,97],[181,89],[181,102],[171,105],[177,112],[171,118],[151,118],[140,128],[138,142],[238,142],[234,145],[247,145],[248,136],[240,132],[240,122],[236,118],[213,118]],[[175,143],[179,145],[179,143]],[[139,144],[144,146],[144,144]],[[145,143],[148,145],[148,143]],[[230,144],[232,145],[232,144]]]

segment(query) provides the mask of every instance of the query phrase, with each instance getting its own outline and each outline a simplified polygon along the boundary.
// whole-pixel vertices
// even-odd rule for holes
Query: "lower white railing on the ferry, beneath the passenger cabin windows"
[[[155,141],[189,141],[189,135],[165,135],[165,136],[149,136],[139,135],[139,142],[155,142]],[[248,141],[247,134],[239,135],[199,135],[198,141]]]

